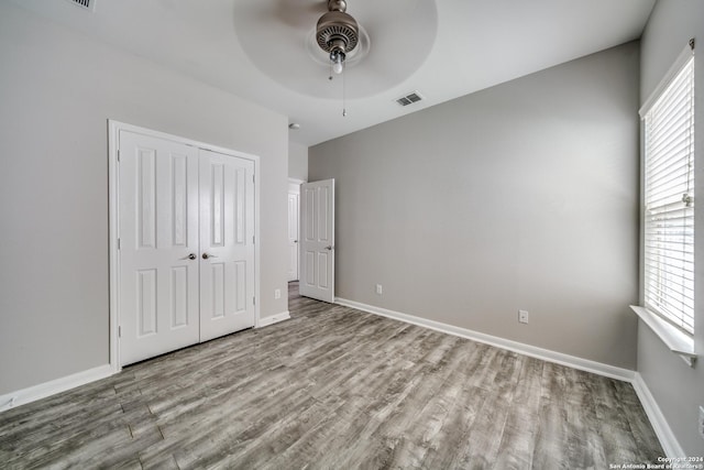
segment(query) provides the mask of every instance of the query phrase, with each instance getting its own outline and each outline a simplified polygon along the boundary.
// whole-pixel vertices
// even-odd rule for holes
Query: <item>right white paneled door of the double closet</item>
[[[200,151],[200,340],[254,326],[254,163]]]

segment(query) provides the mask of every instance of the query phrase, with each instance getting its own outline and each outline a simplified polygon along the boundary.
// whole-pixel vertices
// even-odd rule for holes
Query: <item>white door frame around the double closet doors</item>
[[[178,135],[168,134],[165,132],[155,131],[139,125],[128,124],[124,122],[108,120],[108,231],[109,231],[109,351],[110,351],[110,369],[112,373],[120,372],[122,367],[120,365],[120,341],[118,336],[118,326],[120,325],[120,255],[119,255],[119,228],[120,228],[120,194],[119,194],[119,171],[118,159],[120,152],[120,131],[129,131],[138,134],[144,134],[152,138],[169,140],[178,142],[185,145],[195,146],[201,150],[210,150],[212,152],[222,153],[224,155],[237,156],[254,162],[254,296],[261,299],[260,295],[260,157],[250,153],[238,152],[231,149],[226,149],[217,145],[212,145],[205,142],[198,142],[191,139],[182,138]],[[254,303],[254,327],[260,324],[260,304],[257,300]]]

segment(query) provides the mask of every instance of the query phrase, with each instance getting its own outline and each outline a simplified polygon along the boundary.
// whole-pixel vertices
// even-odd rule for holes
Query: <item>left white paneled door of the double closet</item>
[[[120,364],[198,342],[198,150],[120,131]]]

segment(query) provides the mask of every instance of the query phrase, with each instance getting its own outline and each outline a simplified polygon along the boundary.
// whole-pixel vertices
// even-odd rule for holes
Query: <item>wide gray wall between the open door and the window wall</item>
[[[311,147],[337,295],[634,369],[638,67],[629,43]]]

